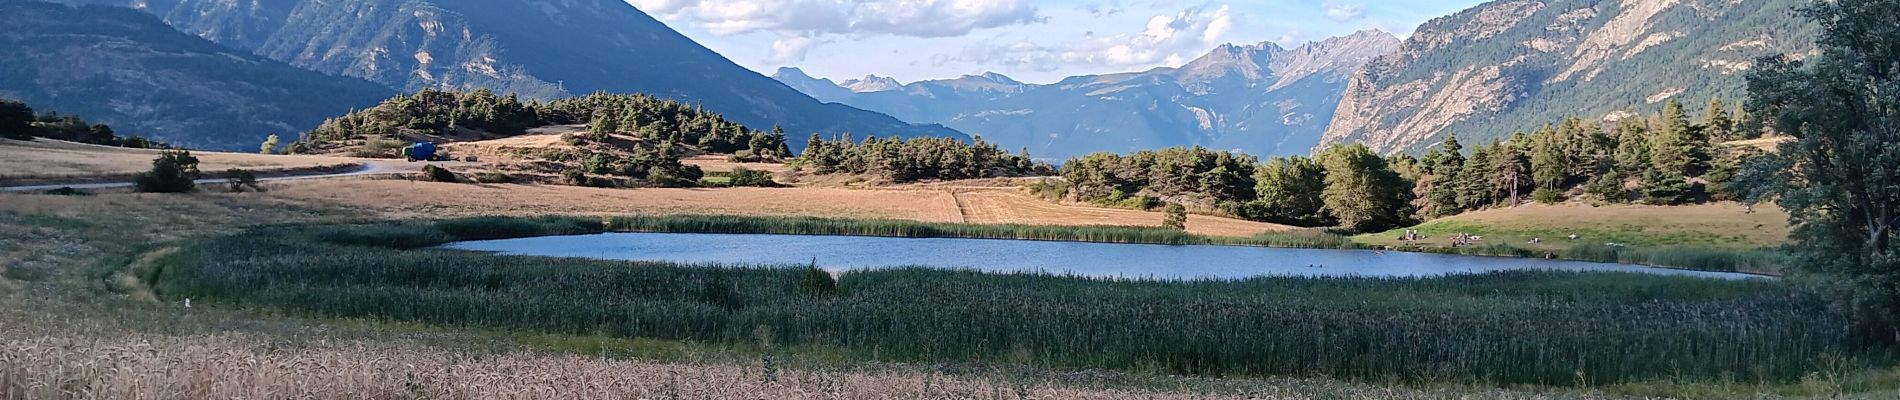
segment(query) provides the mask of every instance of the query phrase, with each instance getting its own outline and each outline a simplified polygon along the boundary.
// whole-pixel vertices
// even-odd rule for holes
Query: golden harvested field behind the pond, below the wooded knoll
[[[323,180],[274,184],[272,195],[363,207],[395,218],[479,214],[737,214],[889,218],[1030,226],[1159,226],[1161,212],[1056,205],[1013,190],[722,188],[602,190],[524,184]],[[1220,216],[1188,218],[1199,235],[1250,237],[1294,227]]]

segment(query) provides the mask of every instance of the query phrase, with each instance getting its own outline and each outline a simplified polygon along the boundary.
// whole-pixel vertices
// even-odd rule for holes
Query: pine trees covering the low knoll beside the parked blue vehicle
[[[469,93],[422,89],[397,95],[372,108],[323,121],[291,144],[291,152],[342,146],[357,138],[416,138],[479,131],[498,136],[522,135],[532,127],[587,123],[587,138],[606,142],[612,135],[633,135],[652,142],[694,146],[712,154],[747,152],[756,157],[790,155],[781,131],[762,133],[728,121],[699,106],[650,95],[593,93],[551,102],[488,89]]]

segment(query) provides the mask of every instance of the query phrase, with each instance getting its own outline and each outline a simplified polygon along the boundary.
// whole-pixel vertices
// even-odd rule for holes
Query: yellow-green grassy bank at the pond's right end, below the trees
[[[1450,245],[1454,231],[1484,235],[1486,243],[1560,250],[1577,233],[1581,243],[1621,243],[1630,246],[1763,248],[1788,239],[1788,212],[1759,205],[1748,212],[1738,203],[1651,207],[1651,205],[1524,205],[1467,212],[1419,226],[1425,245]],[[1438,233],[1438,235],[1431,235]],[[1396,233],[1355,237],[1370,245],[1400,245]],[[1531,239],[1543,239],[1530,245]]]

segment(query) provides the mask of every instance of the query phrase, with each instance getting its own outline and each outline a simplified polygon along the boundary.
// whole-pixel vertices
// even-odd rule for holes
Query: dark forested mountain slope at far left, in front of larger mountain
[[[395,93],[234,51],[125,8],[10,0],[0,27],[0,99],[180,146],[256,150],[266,135],[294,136]]]

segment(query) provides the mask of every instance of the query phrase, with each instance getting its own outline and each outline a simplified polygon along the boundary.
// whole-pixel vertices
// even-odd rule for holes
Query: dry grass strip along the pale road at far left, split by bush
[[[264,154],[220,154],[192,152],[198,155],[201,171],[251,169],[312,169],[331,165],[363,163],[363,159],[325,157],[325,155],[264,155]],[[61,140],[8,140],[0,138],[0,182],[25,180],[66,180],[99,176],[131,176],[152,169],[158,150],[110,148]]]

